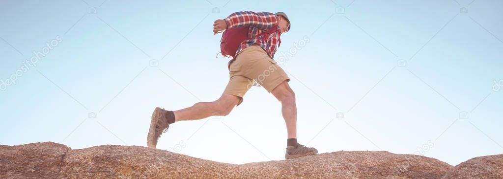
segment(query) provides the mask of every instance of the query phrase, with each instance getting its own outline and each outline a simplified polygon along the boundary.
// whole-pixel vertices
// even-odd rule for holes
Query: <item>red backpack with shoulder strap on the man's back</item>
[[[236,56],[237,48],[239,45],[246,40],[253,39],[265,34],[271,34],[277,31],[278,25],[274,25],[267,32],[259,34],[257,36],[248,38],[249,26],[235,27],[227,29],[222,34],[222,39],[220,40],[220,52],[223,56],[233,59]]]

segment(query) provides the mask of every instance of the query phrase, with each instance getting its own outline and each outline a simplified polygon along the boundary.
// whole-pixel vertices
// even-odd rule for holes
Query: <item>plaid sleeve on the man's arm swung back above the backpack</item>
[[[278,16],[268,12],[242,11],[229,15],[225,20],[227,29],[250,25],[259,29],[267,30],[278,23]]]

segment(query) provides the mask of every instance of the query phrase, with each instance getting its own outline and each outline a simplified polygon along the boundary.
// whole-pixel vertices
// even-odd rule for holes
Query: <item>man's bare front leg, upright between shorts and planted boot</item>
[[[295,93],[287,81],[274,88],[271,93],[281,102],[281,114],[285,119],[288,138],[297,138],[297,105]]]

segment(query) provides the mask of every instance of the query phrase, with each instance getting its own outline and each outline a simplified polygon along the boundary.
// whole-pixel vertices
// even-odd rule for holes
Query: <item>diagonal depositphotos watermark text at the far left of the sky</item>
[[[16,70],[16,72],[14,72],[9,78],[5,80],[0,79],[0,91],[5,91],[9,86],[15,85],[19,77],[23,76],[28,70],[32,69],[33,67],[36,67],[37,63],[42,60],[42,57],[45,57],[47,54],[49,54],[51,50],[53,50],[54,47],[57,47],[61,42],[62,39],[59,36],[56,36],[55,39],[45,43],[45,47],[42,48],[42,51],[33,51],[33,56],[31,56],[30,60],[24,61],[23,65],[21,65],[21,67],[19,67],[19,69]]]

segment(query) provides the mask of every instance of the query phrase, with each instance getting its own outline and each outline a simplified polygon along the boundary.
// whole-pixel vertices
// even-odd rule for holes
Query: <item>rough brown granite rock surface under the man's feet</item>
[[[420,155],[338,151],[229,164],[141,146],[72,150],[44,142],[0,145],[0,178],[497,178],[502,161],[491,155],[453,167]]]

